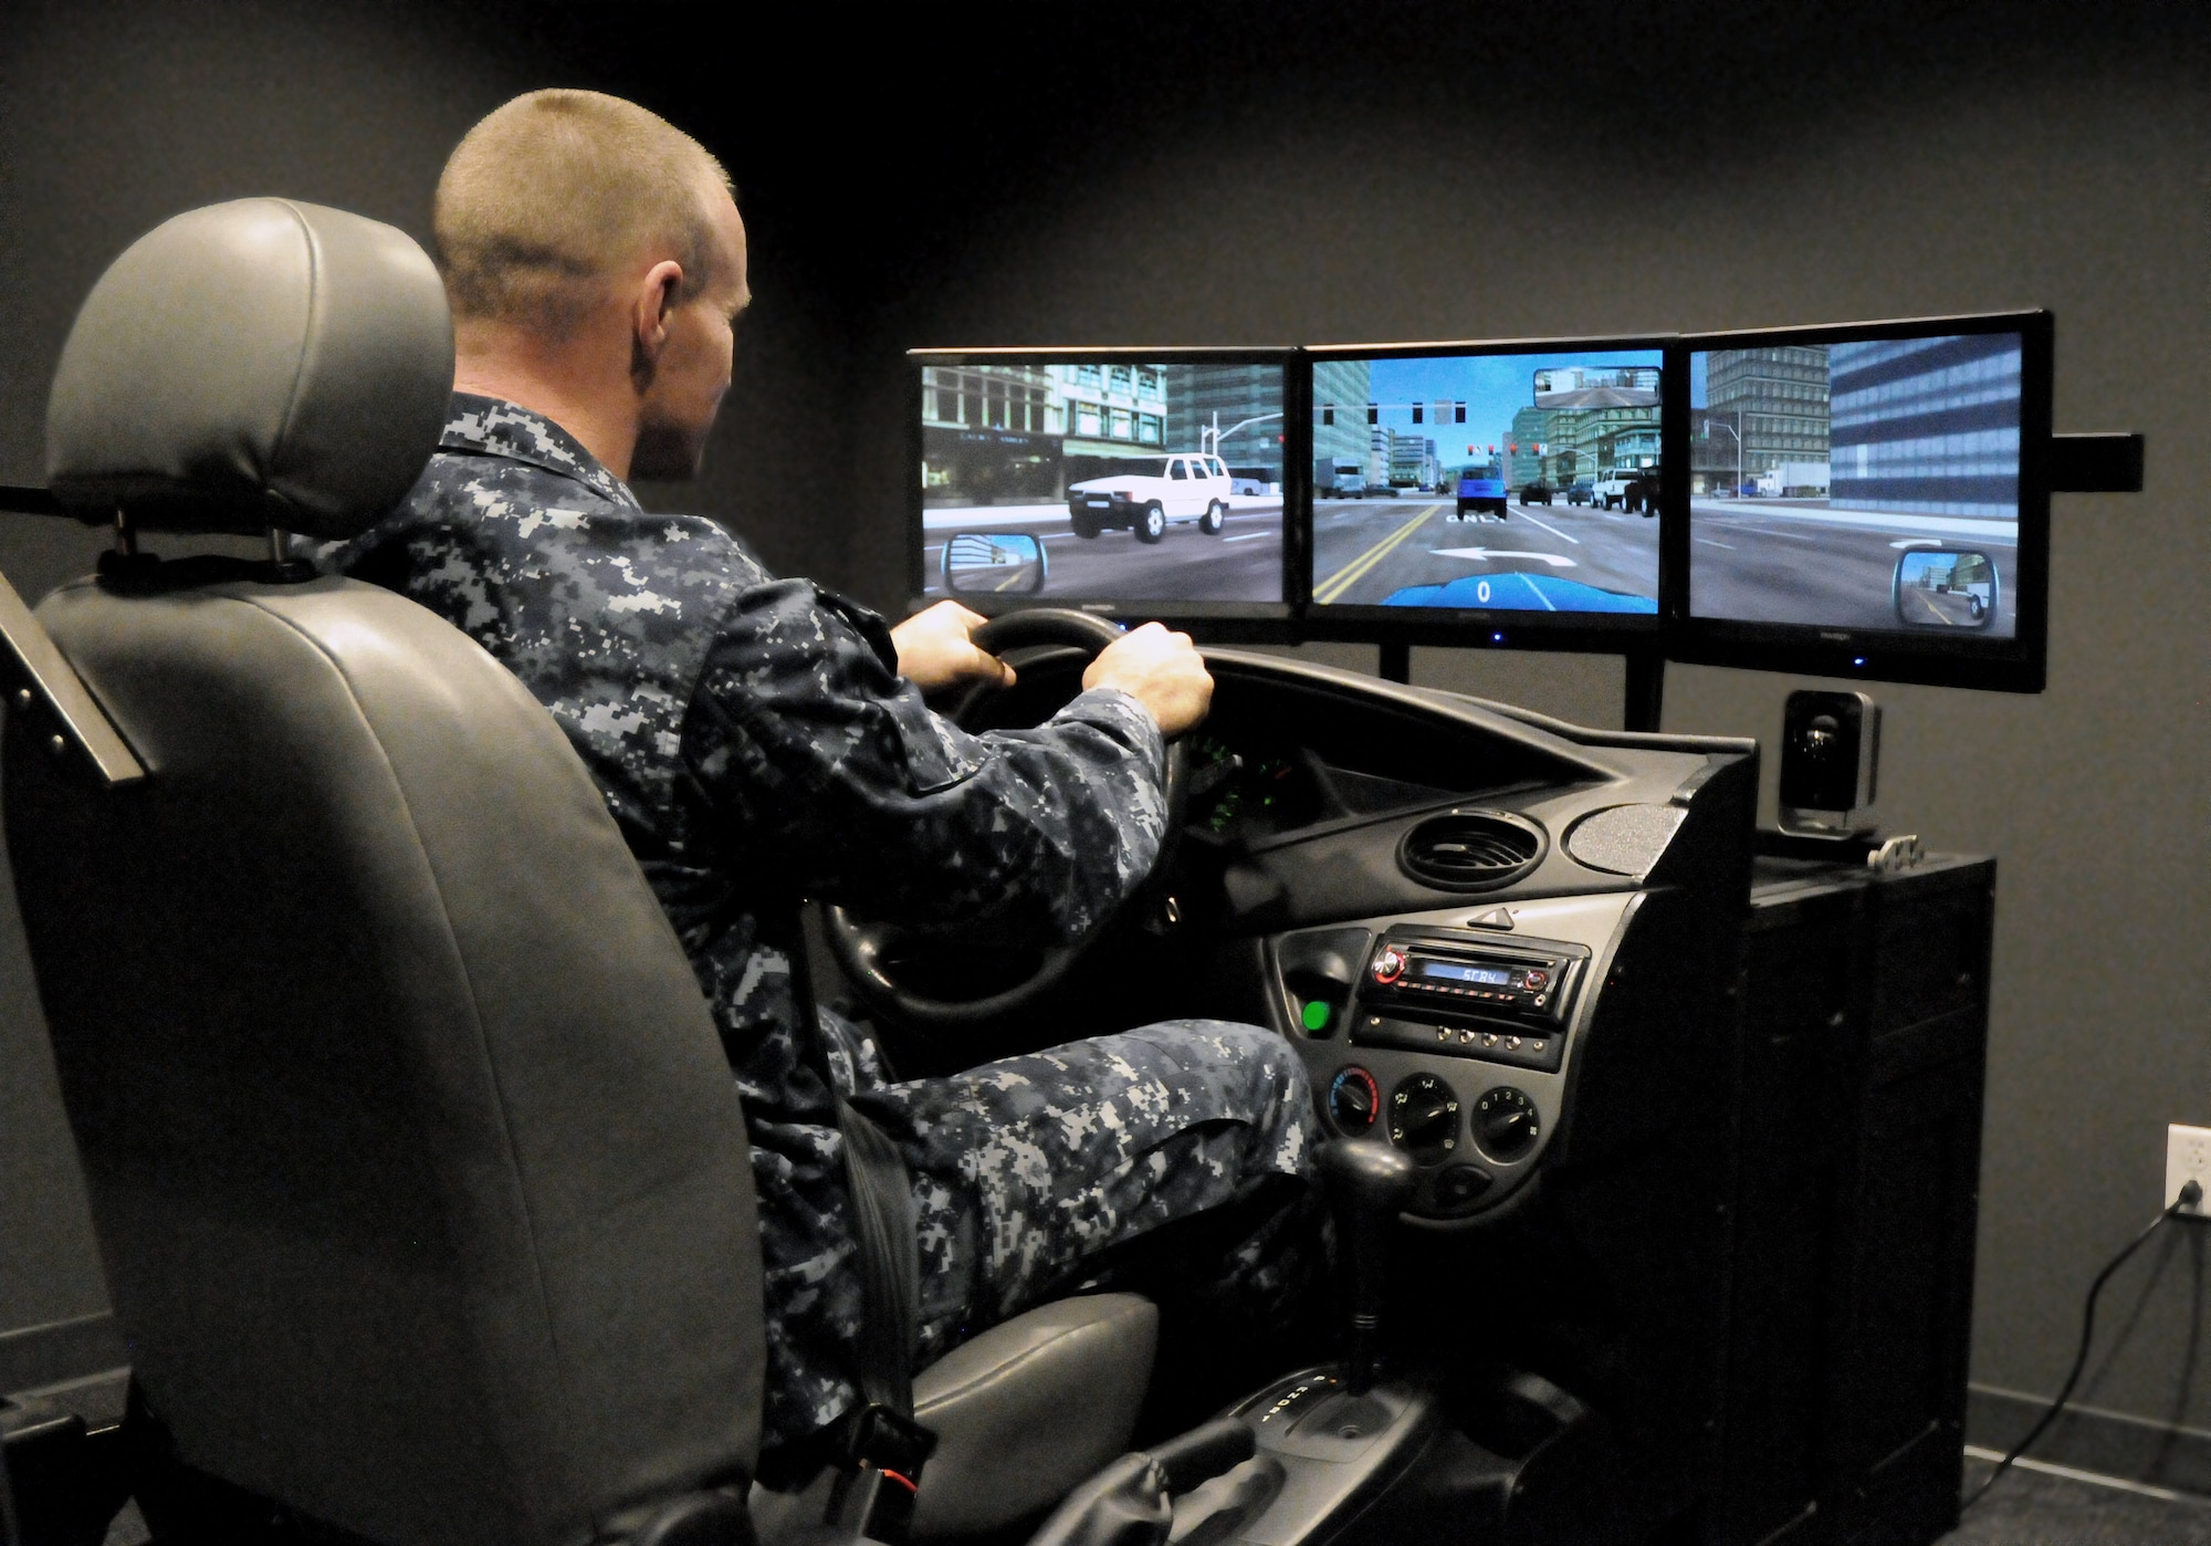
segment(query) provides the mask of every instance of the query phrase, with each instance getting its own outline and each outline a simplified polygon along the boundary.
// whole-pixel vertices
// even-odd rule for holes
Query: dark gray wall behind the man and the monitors
[[[150,11],[150,7],[146,7]],[[137,230],[281,190],[420,232],[451,139],[551,80],[732,161],[758,316],[710,480],[772,562],[891,604],[898,349],[1702,330],[2047,305],[2061,429],[2140,429],[2140,498],[2061,498],[2041,697],[1875,688],[1879,814],[2001,858],[1974,1378],[2052,1391],[2100,1261],[2211,1124],[2204,1017],[2211,24],[2200,4],[1154,7],[1117,31],[849,40],[834,88],[590,13],[22,7],[0,51],[0,480],[38,480],[69,312]],[[646,15],[681,15],[643,9]],[[2001,24],[2001,31],[1999,31]],[[988,46],[988,58],[973,58]],[[816,80],[811,66],[800,69]],[[1019,91],[984,91],[1017,80]],[[944,82],[918,91],[913,82]],[[1143,82],[1143,95],[1106,91]],[[1090,117],[1086,117],[1090,113]],[[862,130],[847,155],[820,126]],[[88,542],[0,522],[27,591]],[[1614,661],[1415,677],[1618,719]],[[1674,668],[1669,730],[1771,745],[1793,679]],[[1771,785],[1771,774],[1769,774]],[[1771,812],[1771,787],[1767,794]],[[13,920],[0,918],[0,1329],[97,1307]],[[18,1245],[22,1241],[22,1245]],[[2211,1427],[2187,1272],[2142,1272],[2087,1398]],[[2129,1298],[2136,1296],[2138,1298]]]

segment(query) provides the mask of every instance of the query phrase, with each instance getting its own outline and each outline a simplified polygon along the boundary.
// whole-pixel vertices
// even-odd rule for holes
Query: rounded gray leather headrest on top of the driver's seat
[[[407,232],[292,199],[139,237],[77,312],[46,400],[46,484],[106,524],[352,537],[444,429],[453,318]]]

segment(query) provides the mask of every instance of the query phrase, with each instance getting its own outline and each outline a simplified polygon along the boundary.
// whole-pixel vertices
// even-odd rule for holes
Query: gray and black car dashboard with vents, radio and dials
[[[1663,1101],[1638,1088],[1694,1099],[1685,1051],[1718,1015],[1716,951],[1749,889],[1753,743],[1276,655],[1207,664],[1178,845],[1136,931],[1150,953],[1106,978],[1154,989],[1128,1013],[1274,1026],[1329,1132],[1408,1155],[1408,1216],[1444,1230],[1649,1137]],[[1048,675],[1024,664],[1044,701],[993,714],[1041,719]]]

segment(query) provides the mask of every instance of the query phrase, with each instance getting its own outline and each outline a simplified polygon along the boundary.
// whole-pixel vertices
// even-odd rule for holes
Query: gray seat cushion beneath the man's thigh
[[[1128,1449],[1152,1382],[1159,1309],[1086,1294],[991,1327],[913,1380],[935,1431],[915,1535],[991,1531],[1057,1502]]]

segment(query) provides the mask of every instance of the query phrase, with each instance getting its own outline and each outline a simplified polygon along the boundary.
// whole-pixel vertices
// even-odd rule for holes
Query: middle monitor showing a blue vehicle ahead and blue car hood
[[[1663,343],[1307,349],[1307,635],[1654,646]]]

